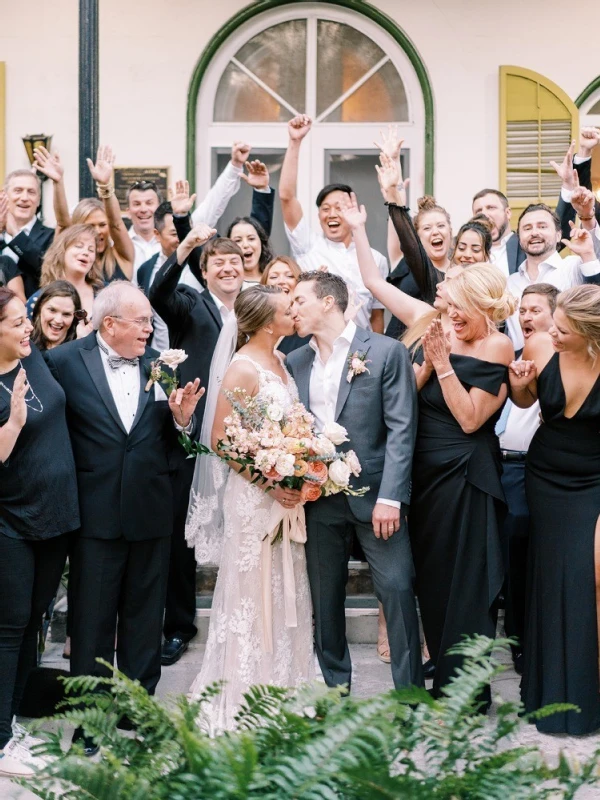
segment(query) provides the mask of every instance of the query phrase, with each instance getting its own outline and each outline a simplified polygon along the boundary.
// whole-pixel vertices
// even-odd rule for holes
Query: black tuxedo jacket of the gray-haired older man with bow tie
[[[140,395],[129,433],[110,391],[96,334],[45,354],[67,398],[81,514],[81,535],[142,541],[170,536],[172,486],[179,434],[167,400],[146,392],[155,350],[140,359]],[[197,435],[197,425],[193,434]]]

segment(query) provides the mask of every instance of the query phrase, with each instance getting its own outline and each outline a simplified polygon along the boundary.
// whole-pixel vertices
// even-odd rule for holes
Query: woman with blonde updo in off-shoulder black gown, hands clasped
[[[496,633],[504,568],[500,449],[494,426],[507,397],[510,339],[497,325],[515,310],[496,267],[467,267],[445,286],[450,329],[439,319],[415,356],[419,428],[409,533],[433,692],[460,666],[463,634]],[[489,688],[482,697],[489,704]]]

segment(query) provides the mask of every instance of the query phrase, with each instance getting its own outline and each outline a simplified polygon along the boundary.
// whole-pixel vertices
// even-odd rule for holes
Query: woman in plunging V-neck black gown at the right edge
[[[539,720],[544,733],[600,728],[600,287],[557,298],[549,333],[510,365],[511,396],[540,401],[526,464],[531,511],[522,697],[527,711],[573,703]]]

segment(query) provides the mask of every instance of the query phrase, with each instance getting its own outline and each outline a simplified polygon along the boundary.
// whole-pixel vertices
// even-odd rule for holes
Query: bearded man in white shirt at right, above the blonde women
[[[508,279],[507,289],[514,297],[520,298],[524,289],[533,283],[550,283],[563,291],[600,273],[593,239],[583,229],[574,231],[571,241],[565,242],[575,255],[561,258],[556,249],[561,240],[560,220],[547,205],[527,206],[519,217],[518,230],[519,242],[527,257]],[[515,349],[523,347],[518,310],[507,320],[506,326]]]

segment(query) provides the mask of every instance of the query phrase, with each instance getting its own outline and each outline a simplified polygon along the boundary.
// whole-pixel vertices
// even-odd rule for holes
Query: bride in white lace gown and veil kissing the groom
[[[275,350],[282,336],[294,332],[289,295],[254,286],[239,295],[234,310],[211,363],[202,443],[213,450],[225,438],[224,419],[231,412],[225,390],[244,389],[284,408],[298,401]],[[217,732],[234,727],[251,685],[292,688],[311,680],[314,671],[306,529],[303,509],[296,509],[300,492],[282,487],[267,492],[267,485],[251,484],[248,472],[240,470],[215,457],[198,458],[186,525],[198,563],[220,567],[202,669],[191,688],[197,699],[207,685],[224,681],[205,709]],[[286,535],[273,542],[286,514],[300,520],[297,541]]]

